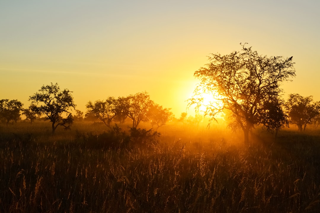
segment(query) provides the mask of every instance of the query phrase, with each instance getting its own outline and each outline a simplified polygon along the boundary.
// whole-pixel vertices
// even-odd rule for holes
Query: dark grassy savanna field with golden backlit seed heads
[[[0,212],[319,212],[320,131],[0,126]],[[143,127],[143,126],[142,126]],[[145,126],[143,128],[151,128]]]

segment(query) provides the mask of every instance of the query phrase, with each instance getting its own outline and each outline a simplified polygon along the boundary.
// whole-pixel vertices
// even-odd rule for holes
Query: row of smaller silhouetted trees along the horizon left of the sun
[[[68,89],[60,90],[59,85],[50,84],[42,86],[38,92],[29,97],[31,104],[28,108],[22,108],[23,104],[18,100],[0,100],[0,119],[8,125],[10,121],[17,122],[21,112],[30,123],[41,116],[52,123],[52,134],[58,126],[70,129],[74,120],[80,121],[84,113],[76,110],[72,92]],[[72,109],[75,115],[71,114]],[[108,97],[106,100],[89,101],[86,104],[86,117],[96,118],[111,129],[111,123],[123,123],[127,118],[132,120],[132,127],[137,128],[141,121],[150,122],[152,126],[159,128],[172,119],[170,108],[154,103],[147,92],[129,95],[127,97]],[[64,116],[64,117],[62,117]]]

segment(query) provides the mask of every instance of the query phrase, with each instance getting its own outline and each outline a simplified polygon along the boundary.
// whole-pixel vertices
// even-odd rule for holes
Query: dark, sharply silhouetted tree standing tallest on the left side
[[[42,86],[39,92],[31,95],[29,101],[36,105],[36,110],[45,114],[46,119],[52,122],[52,135],[58,126],[69,129],[73,123],[70,110],[76,107],[71,91],[60,90],[58,83]],[[66,115],[66,118],[62,118]]]

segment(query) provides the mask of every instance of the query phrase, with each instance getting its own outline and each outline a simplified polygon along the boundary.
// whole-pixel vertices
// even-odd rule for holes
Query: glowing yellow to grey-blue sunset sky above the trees
[[[293,56],[284,98],[320,101],[319,8],[318,0],[0,1],[0,99],[27,108],[57,82],[85,112],[88,101],[146,91],[179,118],[207,56],[247,42],[260,55]]]

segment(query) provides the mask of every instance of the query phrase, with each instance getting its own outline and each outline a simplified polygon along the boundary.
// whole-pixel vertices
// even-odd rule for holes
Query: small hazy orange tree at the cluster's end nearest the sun
[[[152,126],[160,126],[166,124],[166,122],[173,117],[173,113],[170,112],[171,108],[163,108],[159,104],[152,104],[148,110],[148,118]]]

